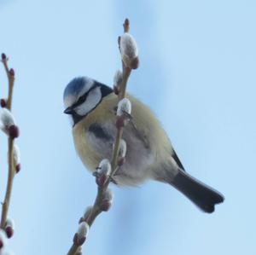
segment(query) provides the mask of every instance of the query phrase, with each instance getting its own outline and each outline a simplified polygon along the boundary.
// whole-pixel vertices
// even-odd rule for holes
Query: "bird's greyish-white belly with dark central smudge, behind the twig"
[[[84,164],[89,165],[90,168],[91,165],[96,168],[102,159],[111,160],[115,135],[116,127],[113,124],[104,127],[94,125],[93,128],[87,130],[85,140],[86,143],[88,142],[87,148],[90,148],[90,152],[88,151],[87,155],[80,155],[84,159]],[[136,185],[152,177],[151,169],[155,156],[129,126],[125,127],[123,139],[127,147],[125,164],[120,166],[113,179],[119,185]],[[93,171],[93,169],[90,169],[90,171]]]

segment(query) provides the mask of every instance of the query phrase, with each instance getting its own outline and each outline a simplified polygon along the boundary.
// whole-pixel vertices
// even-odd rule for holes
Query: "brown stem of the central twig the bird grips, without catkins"
[[[130,22],[128,19],[125,20],[125,23],[123,24],[124,26],[124,32],[129,32],[130,30]],[[118,40],[119,41],[119,40]],[[120,85],[119,88],[119,101],[125,98],[125,93],[126,93],[126,87],[127,87],[127,81],[128,78],[130,77],[131,74],[131,68],[130,67],[125,67],[124,62],[122,61],[122,67],[123,67],[123,78],[122,78],[122,84]],[[112,177],[118,171],[118,157],[119,157],[119,146],[120,146],[120,141],[123,136],[123,127],[120,127],[117,129],[117,133],[115,136],[115,142],[114,142],[114,147],[113,147],[113,158],[111,161],[111,173],[110,176],[108,177],[107,181],[102,185],[102,187],[98,186],[97,194],[96,194],[96,200],[94,202],[94,205],[92,206],[90,210],[90,214],[87,218],[84,219],[86,223],[88,223],[89,226],[92,225],[92,223],[95,221],[96,217],[102,212],[101,205],[102,205],[102,200],[104,199],[104,194],[106,193],[108,189],[108,185],[112,180]],[[77,251],[79,249],[79,246],[74,242],[73,246],[69,249],[67,252],[67,255],[75,255],[77,254]]]

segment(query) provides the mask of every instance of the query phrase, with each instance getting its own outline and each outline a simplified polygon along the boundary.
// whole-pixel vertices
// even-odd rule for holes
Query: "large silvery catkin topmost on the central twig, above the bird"
[[[137,43],[130,33],[125,32],[119,39],[120,53],[125,67],[137,69],[138,50]]]

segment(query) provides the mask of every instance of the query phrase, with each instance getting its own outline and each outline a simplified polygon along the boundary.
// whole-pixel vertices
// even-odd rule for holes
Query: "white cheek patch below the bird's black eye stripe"
[[[99,87],[97,87],[94,90],[91,90],[84,103],[81,104],[79,107],[75,108],[76,113],[78,113],[80,116],[86,115],[93,108],[96,107],[96,105],[99,103],[99,101],[101,101],[101,99],[102,93]]]

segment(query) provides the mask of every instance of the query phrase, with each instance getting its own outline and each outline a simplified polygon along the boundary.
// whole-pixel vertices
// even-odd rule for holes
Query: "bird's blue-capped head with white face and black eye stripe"
[[[73,117],[73,125],[76,125],[102,101],[104,96],[112,92],[108,86],[92,78],[73,78],[64,90],[64,113],[70,114]]]

